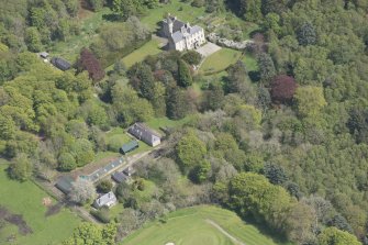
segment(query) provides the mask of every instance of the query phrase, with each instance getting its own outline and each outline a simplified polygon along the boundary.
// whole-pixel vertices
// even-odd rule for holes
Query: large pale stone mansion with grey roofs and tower
[[[168,38],[169,49],[190,51],[205,43],[201,26],[191,26],[170,14],[163,20],[163,34]]]

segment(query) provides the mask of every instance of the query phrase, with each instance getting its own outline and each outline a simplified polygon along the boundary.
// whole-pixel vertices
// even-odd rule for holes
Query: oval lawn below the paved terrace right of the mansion
[[[207,57],[200,67],[204,74],[215,74],[223,71],[230,65],[236,63],[242,57],[242,53],[231,48],[222,48]]]

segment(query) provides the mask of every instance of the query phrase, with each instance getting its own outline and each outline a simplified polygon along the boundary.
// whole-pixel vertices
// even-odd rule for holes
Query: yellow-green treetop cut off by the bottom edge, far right
[[[337,230],[336,227],[327,227],[319,235],[320,245],[361,245],[354,235]]]

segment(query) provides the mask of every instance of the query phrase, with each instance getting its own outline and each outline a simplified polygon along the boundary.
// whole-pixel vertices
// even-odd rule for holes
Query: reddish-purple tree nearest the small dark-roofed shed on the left
[[[104,70],[102,69],[100,62],[94,57],[92,52],[87,48],[83,48],[80,52],[80,57],[77,62],[77,70],[78,73],[87,70],[89,78],[93,81],[99,81],[104,77]]]

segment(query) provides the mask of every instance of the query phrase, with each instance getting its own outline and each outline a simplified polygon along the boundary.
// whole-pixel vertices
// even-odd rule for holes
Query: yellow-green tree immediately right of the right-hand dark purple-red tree
[[[323,88],[299,87],[295,92],[298,111],[302,116],[315,118],[327,103],[323,96]]]

